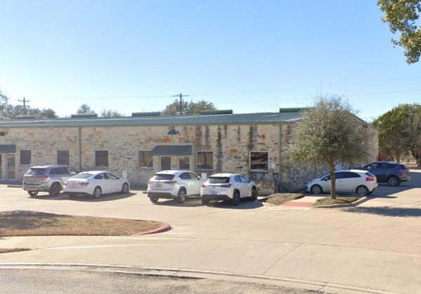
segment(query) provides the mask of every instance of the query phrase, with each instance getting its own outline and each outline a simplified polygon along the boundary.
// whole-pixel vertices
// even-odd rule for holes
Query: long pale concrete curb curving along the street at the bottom
[[[185,279],[214,279],[222,281],[272,284],[293,289],[314,290],[323,293],[377,293],[397,294],[385,290],[349,286],[323,281],[309,281],[279,276],[259,274],[234,274],[201,269],[182,269],[170,267],[133,267],[129,265],[103,265],[88,263],[48,263],[48,262],[0,262],[0,269],[51,269],[51,270],[84,270],[90,272],[107,272],[116,274],[138,274],[140,276],[166,276]]]

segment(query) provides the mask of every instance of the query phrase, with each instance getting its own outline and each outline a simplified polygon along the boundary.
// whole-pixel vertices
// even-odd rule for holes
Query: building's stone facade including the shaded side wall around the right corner
[[[288,123],[260,123],[2,128],[6,135],[0,137],[0,146],[15,145],[16,152],[0,153],[0,178],[13,179],[7,166],[13,160],[13,176],[22,180],[30,166],[57,164],[58,151],[69,151],[69,165],[75,169],[107,169],[119,175],[126,171],[132,186],[145,186],[154,173],[161,170],[163,155],[153,155],[152,167],[145,168],[139,166],[139,151],[152,151],[156,146],[187,145],[192,149],[191,155],[188,155],[189,170],[199,176],[236,172],[255,181],[260,193],[274,193],[279,189],[300,190],[309,179],[321,176],[326,169],[288,162],[285,152],[289,127]],[[168,134],[170,130],[175,130],[175,134]],[[373,156],[368,161],[375,160],[377,149],[377,132],[373,132]],[[20,162],[22,150],[31,151],[29,165]],[[95,167],[95,151],[108,151],[108,167]],[[197,152],[200,151],[212,152],[213,169],[197,167]],[[266,171],[250,170],[250,152],[267,152]],[[179,156],[168,156],[171,157],[171,169],[179,169]]]

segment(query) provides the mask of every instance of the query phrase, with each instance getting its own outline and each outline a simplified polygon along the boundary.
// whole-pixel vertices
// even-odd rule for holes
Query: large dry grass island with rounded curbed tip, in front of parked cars
[[[159,228],[156,221],[46,214],[37,211],[0,212],[0,237],[128,236]]]

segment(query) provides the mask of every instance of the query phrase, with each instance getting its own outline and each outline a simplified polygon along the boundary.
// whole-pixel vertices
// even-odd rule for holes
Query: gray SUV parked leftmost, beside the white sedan
[[[67,165],[31,167],[23,176],[22,187],[31,197],[35,197],[39,192],[57,196],[63,188],[63,182],[75,174],[78,174],[76,169]]]

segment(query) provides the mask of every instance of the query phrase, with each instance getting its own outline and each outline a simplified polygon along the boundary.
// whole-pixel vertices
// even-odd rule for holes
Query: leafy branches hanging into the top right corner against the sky
[[[377,3],[385,13],[383,22],[389,24],[392,33],[400,34],[399,40],[392,39],[392,43],[405,50],[408,64],[418,62],[421,55],[421,27],[417,22],[421,14],[421,0],[378,0]]]

